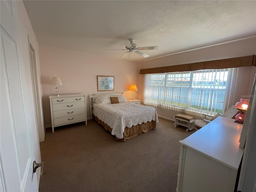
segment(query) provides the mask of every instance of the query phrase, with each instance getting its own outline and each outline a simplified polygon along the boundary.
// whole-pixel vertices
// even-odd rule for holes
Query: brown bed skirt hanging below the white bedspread
[[[92,115],[92,118],[98,123],[101,124],[106,130],[108,130],[110,133],[112,132],[112,128],[108,126],[106,123],[104,123],[102,120],[100,120],[98,117]],[[143,133],[148,132],[149,130],[152,130],[156,128],[156,122],[150,121],[142,124],[138,124],[136,126],[132,127],[126,127],[124,129],[124,138],[120,139],[116,137],[116,140],[125,142],[126,139],[130,139],[133,137],[136,137],[138,135],[141,135]]]

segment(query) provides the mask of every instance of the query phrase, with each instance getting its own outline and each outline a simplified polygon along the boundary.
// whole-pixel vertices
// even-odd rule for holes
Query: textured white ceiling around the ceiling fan
[[[134,38],[143,58],[256,36],[256,1],[24,0],[39,44],[120,58]]]

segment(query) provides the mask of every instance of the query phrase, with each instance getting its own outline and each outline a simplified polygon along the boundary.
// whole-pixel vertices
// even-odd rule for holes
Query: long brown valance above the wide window
[[[167,73],[167,72],[182,72],[182,71],[195,71],[203,69],[225,69],[236,67],[256,66],[256,55],[196,62],[190,64],[173,65],[149,69],[141,69],[140,74],[152,74],[152,73]]]

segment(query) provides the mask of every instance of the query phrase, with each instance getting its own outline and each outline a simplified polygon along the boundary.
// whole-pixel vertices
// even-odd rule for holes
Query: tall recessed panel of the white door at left
[[[6,36],[1,30],[1,58],[4,58],[4,62],[1,65],[4,66],[6,72],[6,78],[8,84],[8,94],[10,102],[10,110],[12,116],[14,141],[16,142],[16,151],[18,153],[18,162],[20,166],[20,176],[23,178],[26,170],[26,164],[30,159],[30,152],[28,148],[26,130],[26,120],[24,115],[24,106],[22,102],[22,92],[20,84],[20,74],[18,66],[18,58],[16,52],[16,44],[12,42],[10,38]],[[4,72],[4,71],[3,71]],[[1,75],[2,76],[2,75]],[[8,98],[7,98],[8,99]]]

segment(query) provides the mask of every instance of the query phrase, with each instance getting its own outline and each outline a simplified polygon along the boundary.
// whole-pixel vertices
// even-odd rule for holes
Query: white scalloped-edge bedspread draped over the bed
[[[158,125],[154,107],[120,102],[117,104],[93,104],[93,114],[112,128],[112,135],[124,138],[124,128],[154,120]]]

